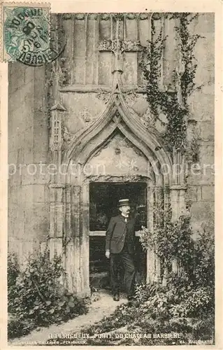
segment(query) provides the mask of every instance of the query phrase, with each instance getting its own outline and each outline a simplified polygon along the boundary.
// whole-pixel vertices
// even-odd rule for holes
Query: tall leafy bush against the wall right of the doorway
[[[145,250],[154,249],[168,267],[167,285],[139,286],[138,302],[148,300],[148,312],[159,317],[214,318],[215,313],[215,239],[213,226],[203,228],[192,238],[189,216],[173,222],[171,207],[157,209],[154,230],[143,228],[140,241]],[[171,272],[174,260],[180,267]],[[151,289],[153,288],[153,289]],[[144,291],[143,291],[144,290]],[[152,290],[154,293],[152,293]],[[152,297],[152,295],[154,295]]]

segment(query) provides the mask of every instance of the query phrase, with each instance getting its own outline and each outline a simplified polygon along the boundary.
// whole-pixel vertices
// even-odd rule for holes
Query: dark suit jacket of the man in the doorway
[[[117,215],[110,219],[108,224],[108,230],[106,231],[106,250],[110,253],[118,254],[124,247],[125,237],[127,235],[128,228],[128,247],[129,253],[134,253],[135,249],[135,225],[136,221],[134,218],[129,218],[126,223],[124,216]]]

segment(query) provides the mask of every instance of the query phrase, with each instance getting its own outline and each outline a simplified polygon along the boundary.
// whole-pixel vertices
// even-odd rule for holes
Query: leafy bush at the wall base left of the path
[[[8,276],[15,276],[10,256],[9,260],[12,263],[8,265]],[[67,321],[87,312],[85,300],[64,290],[61,257],[55,255],[50,260],[49,253],[45,250],[44,253],[29,257],[23,271],[16,271],[16,278],[8,279],[8,311],[15,318],[8,324],[10,337],[23,334],[23,330],[17,328],[18,322],[30,322],[32,328],[35,328],[38,325]]]

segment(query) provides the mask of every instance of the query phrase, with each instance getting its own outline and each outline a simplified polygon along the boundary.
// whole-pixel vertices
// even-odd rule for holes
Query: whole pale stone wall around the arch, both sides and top
[[[173,83],[171,72],[178,64],[175,22],[170,18],[165,21],[168,38],[162,86]],[[113,53],[99,48],[102,41],[115,37],[115,22],[108,15],[99,22],[94,15],[89,15],[86,20],[82,14],[75,18],[66,15],[63,19],[59,15],[58,22],[62,24],[68,43],[63,57],[52,64],[51,76],[48,71],[52,79],[51,90],[47,91],[45,87],[44,67],[8,64],[8,163],[13,164],[10,172],[15,167],[17,170],[8,181],[8,241],[10,251],[17,251],[21,259],[44,241],[49,232],[50,179],[38,171],[40,164],[44,167],[50,162],[46,100],[49,99],[50,107],[57,103],[64,107],[62,137],[66,141],[99,118],[113,89],[110,67],[114,67]],[[130,14],[125,23],[125,31],[120,29],[121,35],[127,41],[139,40],[145,45],[151,29],[148,17],[141,14],[137,21],[134,14]],[[158,31],[162,23],[162,19],[157,18]],[[194,34],[204,36],[195,47],[196,83],[201,85],[201,90],[191,96],[188,120],[189,137],[193,130],[198,135],[197,161],[201,174],[192,174],[189,170],[187,200],[191,204],[192,225],[199,229],[202,223],[210,220],[214,210],[214,15],[200,13],[191,29]],[[138,113],[138,118],[144,120],[148,116],[148,103],[141,91],[140,57],[138,51],[124,52],[122,82],[125,101]],[[69,147],[69,142],[64,142],[63,148],[69,150]],[[107,151],[105,157],[109,159]],[[34,172],[35,165],[36,174],[29,175],[28,169]]]

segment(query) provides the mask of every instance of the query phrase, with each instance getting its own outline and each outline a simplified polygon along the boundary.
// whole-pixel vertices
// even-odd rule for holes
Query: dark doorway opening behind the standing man
[[[136,218],[139,230],[147,225],[146,183],[90,183],[89,184],[89,274],[93,288],[109,288],[109,260],[105,256],[106,229],[112,216],[119,214],[120,199],[131,202],[131,215]],[[136,279],[145,281],[146,254],[136,237]],[[121,272],[122,273],[122,272]]]

